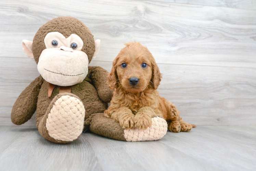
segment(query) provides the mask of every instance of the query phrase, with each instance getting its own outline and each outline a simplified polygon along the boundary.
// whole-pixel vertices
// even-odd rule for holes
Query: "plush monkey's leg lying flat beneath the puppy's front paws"
[[[112,118],[104,117],[103,113],[91,115],[91,132],[121,141],[153,141],[161,139],[167,132],[167,122],[164,118],[153,117],[152,124],[147,129],[123,129]]]

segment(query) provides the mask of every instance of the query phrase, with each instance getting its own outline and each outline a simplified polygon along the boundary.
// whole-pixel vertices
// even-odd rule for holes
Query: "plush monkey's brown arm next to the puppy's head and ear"
[[[113,90],[111,90],[107,83],[108,72],[99,66],[89,66],[88,76],[92,80],[93,86],[97,89],[98,95],[104,102],[109,103],[113,96]]]

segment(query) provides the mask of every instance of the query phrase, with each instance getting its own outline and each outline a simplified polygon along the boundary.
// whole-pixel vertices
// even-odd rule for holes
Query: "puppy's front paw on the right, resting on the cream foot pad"
[[[152,118],[142,112],[138,112],[134,117],[134,125],[138,129],[147,129],[152,124]]]

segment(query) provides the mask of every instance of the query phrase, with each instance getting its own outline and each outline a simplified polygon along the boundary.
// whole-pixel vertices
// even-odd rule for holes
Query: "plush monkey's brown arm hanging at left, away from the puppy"
[[[18,96],[12,108],[12,123],[21,125],[32,117],[36,111],[37,98],[42,83],[42,76],[37,77],[23,90],[20,96]]]

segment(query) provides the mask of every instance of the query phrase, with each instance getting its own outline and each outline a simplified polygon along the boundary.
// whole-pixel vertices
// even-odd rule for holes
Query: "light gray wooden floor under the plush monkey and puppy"
[[[0,170],[255,170],[256,126],[200,126],[158,141],[122,142],[83,133],[51,143],[35,127],[0,127]]]

